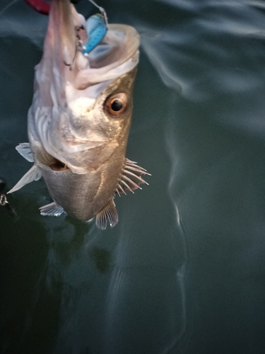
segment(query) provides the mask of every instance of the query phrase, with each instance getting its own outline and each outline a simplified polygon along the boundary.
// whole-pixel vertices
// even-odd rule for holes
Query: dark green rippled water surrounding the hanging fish
[[[265,353],[265,3],[100,5],[141,33],[127,156],[153,176],[116,198],[119,224],[106,231],[41,217],[44,181],[10,196],[1,354]],[[0,11],[0,176],[11,188],[30,168],[15,147],[28,141],[47,17],[23,0]]]

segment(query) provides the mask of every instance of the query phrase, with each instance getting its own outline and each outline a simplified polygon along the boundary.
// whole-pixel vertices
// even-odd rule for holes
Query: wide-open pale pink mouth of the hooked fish
[[[116,79],[139,62],[139,33],[129,25],[108,24],[105,37],[83,55],[81,47],[87,40],[86,20],[73,4],[52,0],[42,65],[45,74],[57,74],[58,86],[69,81],[75,89],[83,90]]]

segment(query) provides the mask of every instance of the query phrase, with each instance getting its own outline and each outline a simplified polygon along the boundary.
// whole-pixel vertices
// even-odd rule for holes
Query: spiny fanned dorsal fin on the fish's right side
[[[125,159],[122,178],[117,185],[115,193],[118,195],[120,195],[120,193],[126,194],[124,189],[128,189],[131,193],[134,193],[135,189],[142,189],[139,185],[140,183],[148,184],[141,178],[142,175],[151,176],[143,167],[138,166],[137,162]]]

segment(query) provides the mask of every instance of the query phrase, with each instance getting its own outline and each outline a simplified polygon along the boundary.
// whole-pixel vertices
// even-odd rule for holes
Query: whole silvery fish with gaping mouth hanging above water
[[[95,217],[106,229],[119,220],[115,196],[141,189],[148,184],[143,176],[151,175],[126,158],[139,33],[106,23],[104,38],[89,51],[95,26],[95,20],[87,26],[69,0],[52,0],[35,67],[29,142],[16,147],[33,166],[8,193],[44,178],[53,201],[40,207],[41,215],[65,212],[81,222]]]

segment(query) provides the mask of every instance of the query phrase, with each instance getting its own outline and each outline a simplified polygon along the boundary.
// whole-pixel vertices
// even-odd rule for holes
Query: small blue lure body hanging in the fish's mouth
[[[90,53],[105,37],[107,25],[104,16],[99,13],[90,16],[88,21],[86,21],[86,32],[88,33],[88,41],[83,45],[83,55]]]

